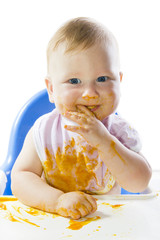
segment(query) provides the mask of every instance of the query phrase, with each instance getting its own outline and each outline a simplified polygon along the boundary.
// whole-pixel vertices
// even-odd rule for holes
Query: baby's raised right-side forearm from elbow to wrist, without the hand
[[[121,187],[130,192],[144,191],[152,174],[145,157],[125,147],[116,137],[109,139],[107,146],[103,142],[99,147],[101,159],[110,167]]]

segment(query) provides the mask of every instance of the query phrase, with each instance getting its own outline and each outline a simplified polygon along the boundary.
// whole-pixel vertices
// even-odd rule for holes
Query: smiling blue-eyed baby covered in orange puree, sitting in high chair
[[[79,219],[96,211],[93,194],[145,190],[152,171],[138,133],[115,114],[122,72],[113,34],[92,19],[72,19],[50,40],[47,61],[56,108],[27,134],[12,170],[13,194]]]

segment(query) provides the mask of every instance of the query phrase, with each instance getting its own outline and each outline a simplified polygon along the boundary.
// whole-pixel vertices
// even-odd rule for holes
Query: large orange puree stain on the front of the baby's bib
[[[47,182],[64,192],[85,191],[91,179],[96,179],[94,169],[97,167],[96,148],[78,146],[75,150],[75,140],[69,142],[65,149],[58,147],[55,156],[46,148],[44,173]],[[85,154],[84,154],[85,152]]]

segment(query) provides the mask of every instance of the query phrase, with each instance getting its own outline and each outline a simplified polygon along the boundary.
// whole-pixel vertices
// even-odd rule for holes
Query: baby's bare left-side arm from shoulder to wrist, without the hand
[[[52,212],[54,203],[63,192],[49,186],[41,175],[42,164],[34,147],[31,129],[12,169],[12,192],[24,204]]]

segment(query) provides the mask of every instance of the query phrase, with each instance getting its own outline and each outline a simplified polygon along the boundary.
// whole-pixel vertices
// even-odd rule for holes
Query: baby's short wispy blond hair
[[[116,43],[113,34],[103,25],[91,18],[74,18],[62,25],[53,35],[47,47],[47,65],[49,59],[60,44],[65,42],[65,54],[90,48],[97,42]],[[49,70],[49,69],[48,69]]]

